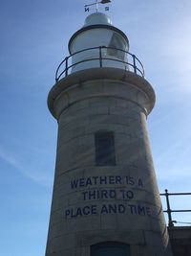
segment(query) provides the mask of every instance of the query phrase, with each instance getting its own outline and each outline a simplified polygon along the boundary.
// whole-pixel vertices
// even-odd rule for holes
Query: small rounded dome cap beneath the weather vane
[[[105,13],[95,12],[87,16],[84,22],[84,27],[92,25],[112,25],[111,18]]]

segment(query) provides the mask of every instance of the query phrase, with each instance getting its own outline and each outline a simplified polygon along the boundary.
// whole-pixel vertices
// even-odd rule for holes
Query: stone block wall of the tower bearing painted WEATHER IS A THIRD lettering
[[[58,141],[46,256],[90,256],[108,241],[130,244],[131,256],[169,256],[146,128],[152,89],[128,72],[94,72],[61,81],[49,99]],[[115,135],[114,166],[96,166],[101,130]]]

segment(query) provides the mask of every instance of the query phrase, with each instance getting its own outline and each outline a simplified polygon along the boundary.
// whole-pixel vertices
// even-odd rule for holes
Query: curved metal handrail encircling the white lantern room
[[[98,55],[97,58],[88,58],[88,59],[83,59],[77,62],[74,62],[73,64],[69,64],[69,61],[71,61],[71,58],[74,57],[75,55],[79,55],[83,52],[87,52],[87,51],[91,51],[91,50],[98,50]],[[111,50],[116,50],[116,51],[120,51],[122,53],[124,53],[125,55],[127,55],[127,57],[131,57],[132,59],[129,60],[129,58],[127,58],[128,60],[122,60],[122,59],[116,59],[116,58],[108,58],[108,57],[104,57],[102,50],[103,49],[111,49]],[[144,67],[142,65],[142,63],[140,62],[140,60],[133,54],[118,49],[118,48],[114,48],[114,47],[106,47],[106,46],[98,46],[98,47],[92,47],[92,48],[87,48],[87,49],[83,49],[80,51],[75,52],[74,54],[64,58],[61,63],[58,65],[56,72],[55,72],[55,81],[59,81],[62,77],[67,77],[69,74],[69,70],[75,65],[78,65],[80,63],[83,62],[87,62],[87,61],[93,61],[93,60],[99,60],[99,67],[103,67],[103,60],[110,60],[110,61],[116,61],[116,62],[120,62],[120,63],[124,63],[130,67],[133,68],[133,72],[135,74],[139,74],[140,76],[142,76],[144,78]]]

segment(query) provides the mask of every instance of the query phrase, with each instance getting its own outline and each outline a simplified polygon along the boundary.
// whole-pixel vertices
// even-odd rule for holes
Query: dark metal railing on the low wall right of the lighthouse
[[[188,223],[188,222],[180,222],[180,221],[173,221],[172,213],[188,213],[191,210],[179,209],[179,210],[172,210],[170,207],[170,199],[171,196],[191,196],[191,193],[168,193],[168,190],[165,189],[165,193],[160,194],[160,196],[164,196],[166,198],[166,206],[167,209],[164,210],[164,213],[168,215],[168,226],[174,226],[174,223]],[[191,222],[189,222],[191,224]]]

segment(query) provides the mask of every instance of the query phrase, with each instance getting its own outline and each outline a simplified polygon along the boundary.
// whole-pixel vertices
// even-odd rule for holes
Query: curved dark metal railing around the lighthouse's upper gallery
[[[88,51],[95,51],[97,50],[96,56],[95,58],[83,58],[80,61],[76,61],[74,63],[72,63],[72,58],[74,56],[80,55],[81,53],[84,52],[88,52]],[[121,55],[124,56],[124,59],[120,59],[120,58],[115,58],[115,55],[109,55],[109,54],[105,54],[106,50],[113,50],[113,51],[118,51],[118,53],[120,53]],[[114,58],[112,58],[112,56]],[[84,49],[78,52],[75,52],[74,54],[64,58],[64,60],[62,60],[62,62],[59,64],[59,66],[57,67],[57,70],[55,72],[55,81],[59,81],[61,78],[63,77],[67,77],[69,75],[69,71],[74,67],[77,66],[81,63],[84,62],[88,62],[88,61],[94,61],[94,60],[98,60],[98,67],[108,67],[110,65],[105,64],[104,65],[104,60],[108,60],[108,61],[116,61],[119,63],[123,63],[124,64],[124,69],[128,69],[131,72],[134,72],[135,74],[140,75],[141,77],[144,78],[144,67],[142,65],[142,63],[140,62],[140,60],[133,54],[126,52],[124,50],[118,49],[118,48],[114,48],[114,47],[106,47],[106,46],[99,46],[99,47],[92,47],[92,48],[88,48],[88,49]]]

